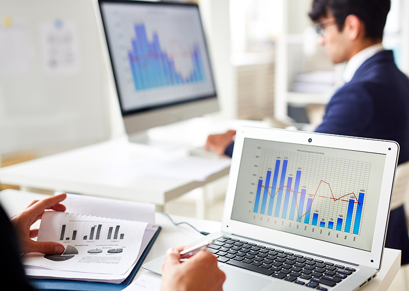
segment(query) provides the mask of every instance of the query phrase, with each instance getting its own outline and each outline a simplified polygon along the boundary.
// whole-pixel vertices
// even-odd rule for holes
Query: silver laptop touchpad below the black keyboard
[[[260,290],[267,286],[272,280],[248,274],[229,266],[221,266],[220,270],[226,274],[226,280],[223,283],[223,290]]]

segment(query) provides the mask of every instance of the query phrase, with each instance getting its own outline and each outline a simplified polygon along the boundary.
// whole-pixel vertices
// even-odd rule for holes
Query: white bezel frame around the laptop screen
[[[232,220],[233,203],[245,138],[385,154],[385,165],[371,251],[359,250],[347,246],[328,243],[327,241],[321,241],[301,235]],[[312,139],[311,142],[308,141],[310,138]],[[343,146],[340,147],[340,144]],[[226,191],[221,230],[226,233],[258,239],[266,243],[272,243],[275,245],[284,246],[286,248],[316,254],[322,257],[332,258],[353,264],[367,265],[379,270],[388,227],[391,193],[393,189],[398,155],[399,145],[395,141],[374,140],[368,138],[337,136],[301,131],[287,131],[281,129],[241,127],[237,131],[235,138],[235,147],[230,168],[228,188]],[[303,246],[303,248],[301,248],[301,246]]]

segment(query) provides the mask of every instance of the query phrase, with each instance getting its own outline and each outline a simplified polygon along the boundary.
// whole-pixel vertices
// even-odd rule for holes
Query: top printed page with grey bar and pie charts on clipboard
[[[65,247],[58,255],[25,256],[25,264],[53,270],[124,274],[138,257],[148,223],[47,211],[39,241]],[[140,236],[135,234],[141,234]]]

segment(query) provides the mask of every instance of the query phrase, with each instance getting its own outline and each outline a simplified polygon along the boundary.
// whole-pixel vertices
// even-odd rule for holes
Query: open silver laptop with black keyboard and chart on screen
[[[240,128],[221,230],[201,239],[215,239],[223,290],[365,286],[381,266],[398,155],[395,141]],[[143,267],[161,274],[163,261]]]

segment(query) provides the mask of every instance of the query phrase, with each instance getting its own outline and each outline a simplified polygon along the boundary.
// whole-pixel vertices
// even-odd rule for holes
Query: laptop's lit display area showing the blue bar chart
[[[231,219],[371,251],[385,159],[245,138]]]

